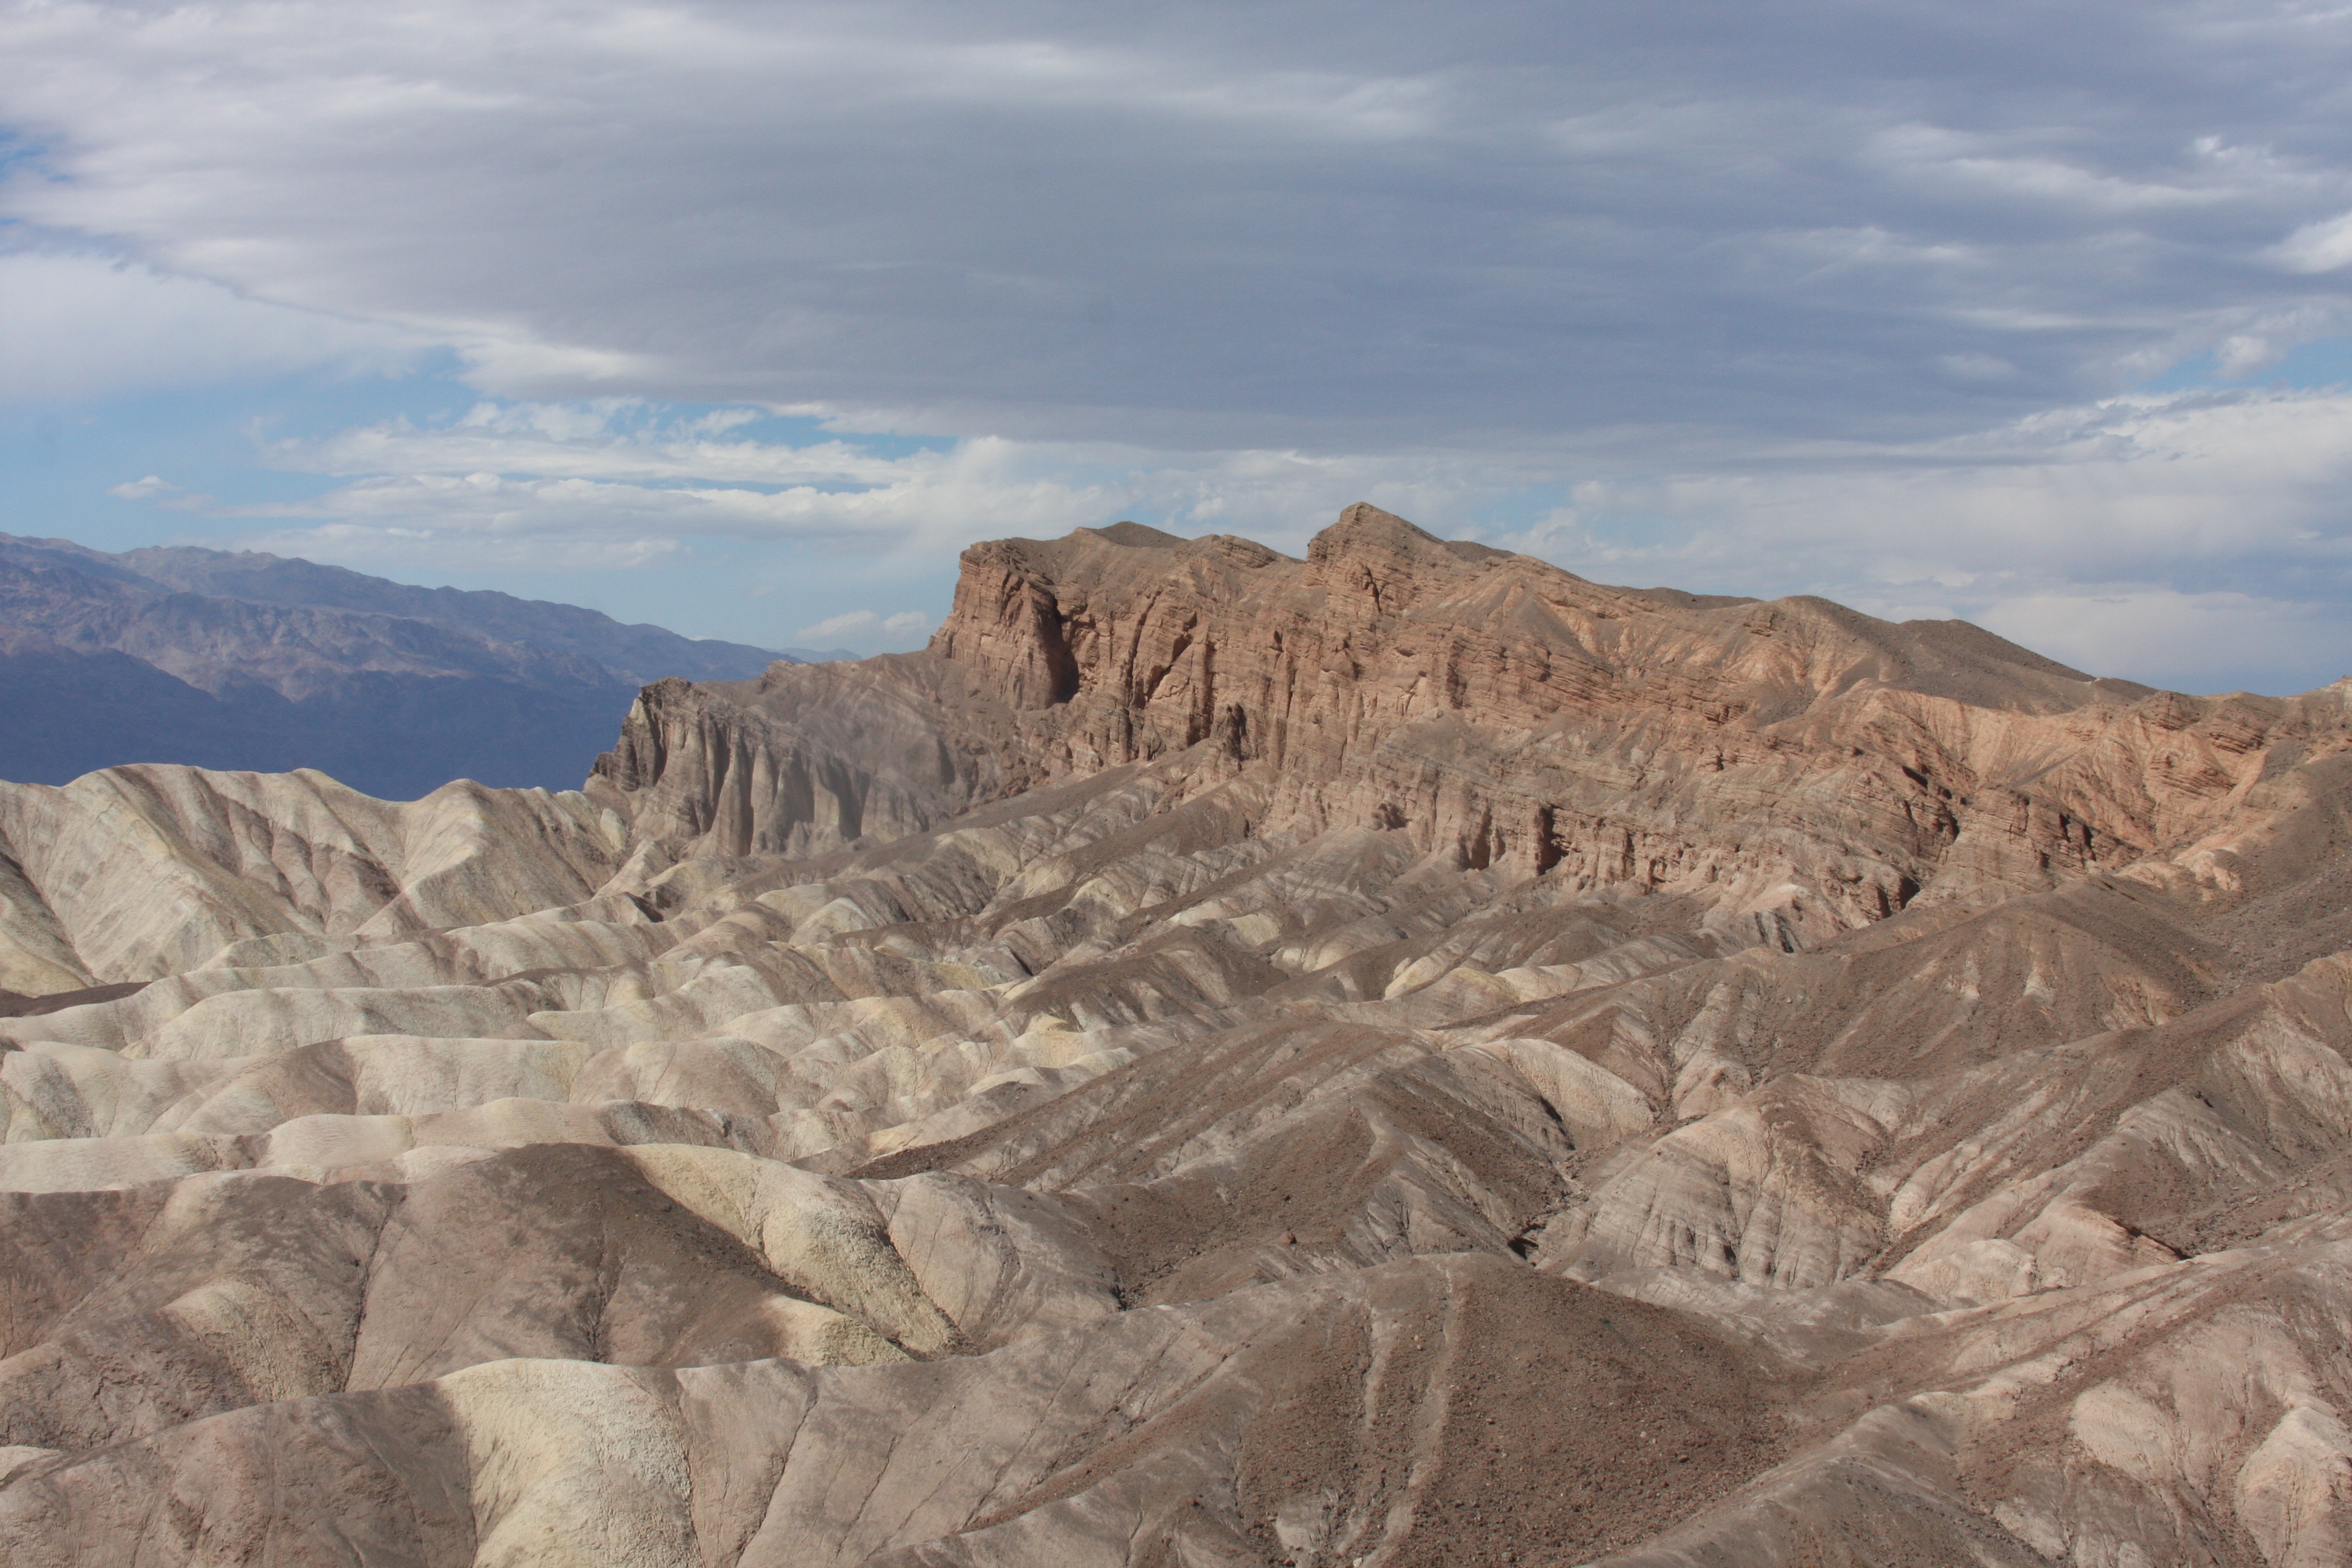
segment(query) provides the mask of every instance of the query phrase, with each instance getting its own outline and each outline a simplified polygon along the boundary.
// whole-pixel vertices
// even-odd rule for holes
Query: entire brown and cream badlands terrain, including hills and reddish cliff
[[[0,1561],[2340,1563],[2347,748],[1357,505],[5,785]]]

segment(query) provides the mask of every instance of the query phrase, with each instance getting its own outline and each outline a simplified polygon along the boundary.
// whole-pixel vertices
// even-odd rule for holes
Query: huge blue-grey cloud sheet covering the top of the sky
[[[0,212],[508,397],[1924,440],[2340,324],[2347,73],[2352,21],[2284,0],[28,5]]]

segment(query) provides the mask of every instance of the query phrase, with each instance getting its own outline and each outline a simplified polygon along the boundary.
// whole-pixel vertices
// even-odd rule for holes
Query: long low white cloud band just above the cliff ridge
[[[273,461],[336,480],[306,501],[228,505],[155,477],[113,494],[270,524],[242,536],[254,548],[412,576],[684,564],[727,541],[908,574],[974,536],[1117,517],[1303,552],[1341,505],[1371,498],[1604,581],[1969,616],[2103,672],[2187,686],[2333,679],[2338,642],[2314,628],[2352,623],[2352,390],[2340,388],[2112,397],[1933,442],[1823,442],[1785,463],[1599,477],[1510,451],[1324,458],[1007,440],[887,451],[849,437],[762,440],[767,418],[477,404],[430,428],[393,421],[266,444]],[[2147,630],[2166,607],[2185,616],[2178,637]],[[908,616],[851,611],[830,618],[835,632],[793,635],[929,625]],[[2110,628],[2117,642],[2100,654],[2070,625]]]

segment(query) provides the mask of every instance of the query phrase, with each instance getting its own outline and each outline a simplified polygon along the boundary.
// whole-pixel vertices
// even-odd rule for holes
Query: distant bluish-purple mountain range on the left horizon
[[[259,552],[0,534],[0,778],[120,762],[320,769],[383,799],[572,790],[637,686],[786,658],[574,604]]]

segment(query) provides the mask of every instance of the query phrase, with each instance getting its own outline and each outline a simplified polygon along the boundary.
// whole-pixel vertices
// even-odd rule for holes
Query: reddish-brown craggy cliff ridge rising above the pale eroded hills
[[[2333,689],[2154,693],[1966,623],[1604,588],[1371,505],[1303,562],[1138,524],[974,545],[929,651],[856,670],[649,691],[600,785],[663,837],[821,853],[1155,764],[1178,795],[1263,780],[1261,832],[1381,827],[1818,936],[2190,844],[2347,741]]]

